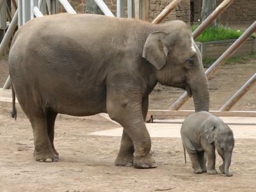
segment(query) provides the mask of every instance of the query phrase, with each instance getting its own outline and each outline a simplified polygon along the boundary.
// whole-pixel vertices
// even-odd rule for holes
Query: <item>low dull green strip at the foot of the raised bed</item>
[[[234,64],[243,64],[250,60],[256,60],[256,52],[252,52],[250,54],[246,54],[245,56],[236,56],[234,58],[229,58],[225,65],[234,65]],[[210,67],[212,63],[214,63],[216,59],[205,58],[203,59],[204,67]]]

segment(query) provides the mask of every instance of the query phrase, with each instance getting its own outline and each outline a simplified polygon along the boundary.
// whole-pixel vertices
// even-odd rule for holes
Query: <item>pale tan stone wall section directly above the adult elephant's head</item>
[[[153,20],[157,15],[163,11],[163,9],[172,0],[151,0],[150,1],[150,20]],[[182,0],[179,6],[172,11],[165,20],[179,19],[184,22],[190,22],[190,0]]]

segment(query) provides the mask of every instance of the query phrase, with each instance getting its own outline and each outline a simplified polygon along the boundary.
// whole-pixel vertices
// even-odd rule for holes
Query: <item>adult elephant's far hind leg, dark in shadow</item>
[[[54,147],[54,123],[56,120],[56,116],[58,115],[58,113],[54,112],[54,111],[48,111],[47,112],[47,133],[48,133],[48,137],[52,146],[52,150],[55,154],[54,156],[54,161],[58,161],[59,159],[59,153],[56,151],[55,147]]]

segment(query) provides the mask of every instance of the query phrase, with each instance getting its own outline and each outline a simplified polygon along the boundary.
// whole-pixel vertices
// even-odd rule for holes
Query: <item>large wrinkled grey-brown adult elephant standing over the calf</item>
[[[33,127],[36,161],[58,159],[58,113],[108,113],[124,127],[115,164],[156,167],[145,118],[157,82],[188,90],[196,111],[209,109],[200,52],[178,20],[154,25],[87,14],[34,19],[17,31],[9,66],[13,91]]]

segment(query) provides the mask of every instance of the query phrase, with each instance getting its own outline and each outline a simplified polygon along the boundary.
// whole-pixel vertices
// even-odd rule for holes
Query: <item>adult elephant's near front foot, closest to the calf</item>
[[[139,169],[156,168],[156,161],[150,155],[134,157],[133,166]]]

